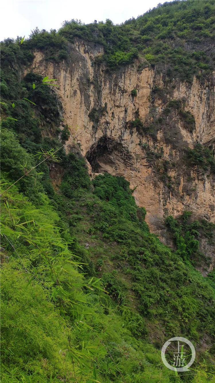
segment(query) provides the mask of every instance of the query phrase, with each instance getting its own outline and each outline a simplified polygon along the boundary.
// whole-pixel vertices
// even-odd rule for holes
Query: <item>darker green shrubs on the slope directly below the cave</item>
[[[93,244],[91,246],[95,249],[95,260],[98,251],[100,254],[98,246],[102,246],[102,280],[115,301],[120,301],[118,298],[120,296],[123,302],[131,304],[128,295],[132,286],[141,316],[151,324],[160,321],[161,318],[165,321],[165,309],[169,306],[171,308],[169,333],[178,331],[176,327],[179,326],[181,332],[188,332],[190,336],[192,334],[193,339],[197,339],[202,328],[201,310],[203,312],[209,310],[210,324],[204,327],[204,331],[208,332],[213,328],[210,304],[207,304],[207,308],[206,306],[203,308],[202,303],[199,304],[199,296],[202,296],[205,289],[205,280],[194,270],[191,263],[184,263],[188,260],[188,253],[186,252],[185,258],[183,243],[174,254],[163,246],[156,236],[149,234],[147,227],[140,221],[127,214],[125,216],[124,211],[131,198],[131,191],[126,191],[125,188],[123,190],[120,181],[118,177],[100,175],[93,181],[96,197],[83,191],[74,197],[77,211],[81,209],[84,214],[84,219],[76,226],[75,232],[82,240],[83,236],[87,235],[85,226],[94,229],[93,238],[91,239],[89,235],[84,241]],[[115,194],[118,194],[117,201],[113,198]],[[120,206],[123,206],[121,211]],[[194,254],[198,247],[198,241],[192,237],[195,228],[196,226],[192,225],[191,234],[186,233],[185,242],[188,244],[189,254]],[[88,229],[88,232],[92,231]],[[110,254],[113,254],[111,261]],[[113,265],[115,270],[110,272]],[[176,290],[175,280],[178,281]],[[198,288],[194,287],[197,280],[200,283]],[[209,292],[209,285],[207,286],[207,293],[204,292],[204,296],[212,293]],[[196,292],[198,290],[197,295],[195,290]],[[185,298],[179,299],[179,296],[187,297],[188,301]],[[121,304],[120,310],[122,310]]]

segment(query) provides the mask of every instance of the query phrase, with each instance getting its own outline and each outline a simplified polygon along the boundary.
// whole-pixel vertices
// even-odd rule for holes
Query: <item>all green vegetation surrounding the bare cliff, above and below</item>
[[[200,236],[212,243],[213,225],[191,221],[189,212],[178,220],[169,216],[177,249],[164,246],[150,233],[146,211],[123,177],[105,173],[91,181],[81,155],[63,147],[53,154],[70,139],[61,105],[42,77],[28,73],[20,80],[17,70],[32,61],[35,48],[48,60],[67,59],[68,41],[78,36],[103,44],[101,60],[110,68],[139,54],[152,65],[180,62],[182,70],[168,72],[167,65],[169,76],[207,75],[211,57],[205,58],[201,44],[213,37],[213,6],[176,1],[120,26],[65,22],[59,32],[36,29],[21,45],[10,39],[2,44],[2,382],[213,381],[214,273],[203,277],[194,268],[203,257]],[[182,60],[184,38],[199,48]],[[158,124],[172,111],[192,128],[181,100],[170,101]],[[103,113],[105,108],[89,113],[95,126]],[[129,128],[156,136],[138,116]],[[162,151],[142,147],[149,162],[159,161],[160,179],[173,190]],[[203,170],[214,167],[211,152],[200,145],[187,156]],[[161,362],[163,341],[179,335],[196,347],[193,375],[176,375]],[[206,352],[202,339],[209,339]]]

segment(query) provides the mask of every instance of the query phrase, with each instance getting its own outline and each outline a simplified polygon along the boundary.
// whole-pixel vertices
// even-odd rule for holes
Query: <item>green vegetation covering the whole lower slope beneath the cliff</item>
[[[19,151],[18,169],[27,153],[11,134],[3,129],[3,152],[9,162]],[[84,161],[73,154],[67,161],[64,195],[48,198],[33,183],[38,208],[18,183],[2,196],[2,381],[73,381],[74,374],[77,381],[156,381],[160,368],[162,380],[171,381],[156,349],[166,309],[168,336],[212,336],[210,283],[189,257],[183,263],[181,249],[174,254],[149,233],[128,182],[105,174],[91,185]],[[147,340],[154,342],[150,329],[160,339],[156,348]],[[196,370],[198,381],[210,380],[205,368]]]

